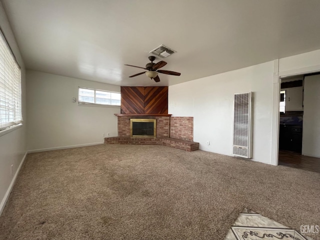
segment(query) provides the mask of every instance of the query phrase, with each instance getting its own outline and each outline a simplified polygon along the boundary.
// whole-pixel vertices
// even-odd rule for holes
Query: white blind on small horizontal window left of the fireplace
[[[79,104],[119,106],[121,102],[121,94],[119,92],[79,87],[78,102]]]

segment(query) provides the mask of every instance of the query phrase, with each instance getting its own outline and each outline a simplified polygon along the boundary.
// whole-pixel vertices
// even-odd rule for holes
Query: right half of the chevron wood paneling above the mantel
[[[168,87],[144,87],[144,113],[168,114]]]

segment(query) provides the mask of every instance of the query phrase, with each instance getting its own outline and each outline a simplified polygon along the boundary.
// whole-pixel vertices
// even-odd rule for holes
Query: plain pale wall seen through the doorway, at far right
[[[320,75],[304,78],[302,154],[320,157]]]

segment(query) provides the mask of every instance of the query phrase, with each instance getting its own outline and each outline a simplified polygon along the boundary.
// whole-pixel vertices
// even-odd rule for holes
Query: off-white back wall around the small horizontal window
[[[28,150],[103,142],[117,135],[120,107],[83,106],[72,102],[78,86],[120,92],[120,86],[26,71]]]

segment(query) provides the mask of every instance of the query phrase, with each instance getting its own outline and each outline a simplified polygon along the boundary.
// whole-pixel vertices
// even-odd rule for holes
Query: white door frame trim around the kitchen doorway
[[[279,59],[273,60],[273,99],[272,99],[272,132],[271,132],[271,159],[270,164],[278,165],[279,154],[279,126],[280,126],[280,89],[281,78],[304,75],[320,71],[320,64],[279,72]]]

